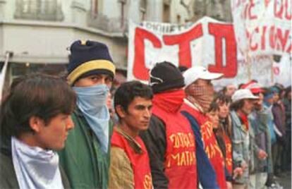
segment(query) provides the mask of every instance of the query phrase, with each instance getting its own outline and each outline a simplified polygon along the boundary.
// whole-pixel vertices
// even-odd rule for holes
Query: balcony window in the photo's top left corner
[[[15,18],[61,21],[61,0],[16,0]]]

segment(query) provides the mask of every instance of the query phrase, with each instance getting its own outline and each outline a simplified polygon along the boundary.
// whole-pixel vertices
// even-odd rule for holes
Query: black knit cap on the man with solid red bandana
[[[184,87],[185,83],[181,71],[173,63],[164,61],[157,63],[150,71],[150,85],[153,93],[156,94]]]

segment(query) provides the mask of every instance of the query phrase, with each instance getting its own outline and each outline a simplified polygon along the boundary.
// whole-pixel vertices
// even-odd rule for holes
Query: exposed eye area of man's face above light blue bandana
[[[111,76],[107,74],[95,74],[90,75],[85,78],[80,78],[74,84],[75,87],[90,87],[93,85],[107,85],[107,87],[111,88],[111,83],[113,79]]]

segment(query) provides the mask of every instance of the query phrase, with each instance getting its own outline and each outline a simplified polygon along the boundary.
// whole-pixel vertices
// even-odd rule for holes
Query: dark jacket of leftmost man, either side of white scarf
[[[0,149],[0,188],[19,188],[11,154],[11,138],[1,135]],[[68,178],[60,167],[64,188],[71,188]]]

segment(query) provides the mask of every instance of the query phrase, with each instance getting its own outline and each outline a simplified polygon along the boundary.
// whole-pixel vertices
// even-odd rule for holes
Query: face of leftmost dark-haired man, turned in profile
[[[58,114],[51,121],[44,124],[41,120],[35,130],[37,146],[48,150],[61,150],[65,146],[68,131],[74,128],[74,123],[70,115]]]

